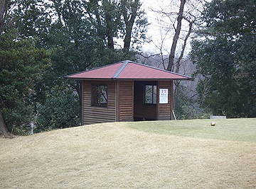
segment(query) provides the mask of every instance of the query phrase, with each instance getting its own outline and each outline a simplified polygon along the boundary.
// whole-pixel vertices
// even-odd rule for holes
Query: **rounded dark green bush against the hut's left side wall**
[[[56,86],[46,96],[46,103],[38,105],[36,132],[74,127],[80,124],[79,98],[72,88]]]

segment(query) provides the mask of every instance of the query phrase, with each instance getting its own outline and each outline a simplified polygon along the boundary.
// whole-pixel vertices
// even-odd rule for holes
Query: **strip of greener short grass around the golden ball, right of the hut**
[[[210,126],[210,122],[216,125]],[[256,142],[256,118],[129,122],[126,126],[157,134]]]

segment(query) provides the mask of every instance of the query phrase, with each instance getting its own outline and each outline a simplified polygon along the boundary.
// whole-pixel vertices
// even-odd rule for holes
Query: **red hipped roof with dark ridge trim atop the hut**
[[[82,71],[77,74],[66,76],[68,79],[129,79],[129,80],[158,80],[158,79],[182,79],[190,77],[176,74],[164,69],[149,67],[144,64],[125,60],[105,67]]]

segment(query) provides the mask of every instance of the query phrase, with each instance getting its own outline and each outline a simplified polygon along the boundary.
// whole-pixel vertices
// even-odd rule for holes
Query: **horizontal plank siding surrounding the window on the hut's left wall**
[[[107,107],[92,105],[92,85],[107,85]],[[100,122],[114,122],[115,81],[83,81],[82,125]]]

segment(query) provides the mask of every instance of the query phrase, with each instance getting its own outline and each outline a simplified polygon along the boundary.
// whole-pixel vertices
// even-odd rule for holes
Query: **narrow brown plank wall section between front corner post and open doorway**
[[[134,81],[119,81],[119,119],[120,122],[133,121]]]

